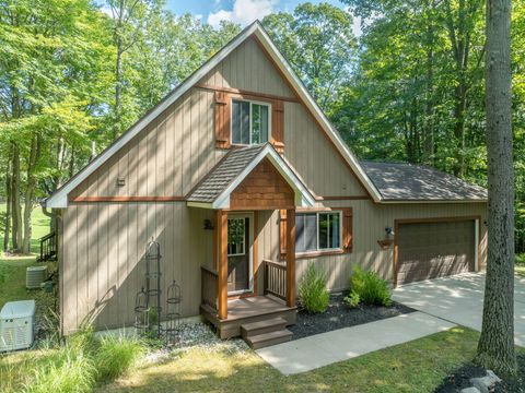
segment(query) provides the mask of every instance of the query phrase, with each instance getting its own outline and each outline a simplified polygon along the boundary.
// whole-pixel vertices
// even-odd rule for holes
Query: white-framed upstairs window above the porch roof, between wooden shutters
[[[268,142],[270,106],[245,100],[232,102],[232,143]]]

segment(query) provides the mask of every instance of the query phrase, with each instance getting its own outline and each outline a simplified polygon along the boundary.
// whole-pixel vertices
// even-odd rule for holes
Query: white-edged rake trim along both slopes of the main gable
[[[276,67],[279,68],[282,75],[287,79],[290,85],[295,90],[298,96],[303,104],[310,109],[314,118],[319,122],[334,146],[341,154],[348,165],[355,172],[357,177],[363,183],[366,191],[372,195],[374,201],[381,201],[381,194],[370,181],[366,174],[359,165],[357,158],[350,152],[348,146],[341,140],[339,133],[332,128],[326,116],[312,98],[306,87],[303,85],[298,75],[293,72],[292,68],[283,56],[279,52],[275,44],[271,41],[268,33],[265,31],[260,22],[256,21],[245,29],[243,29],[235,38],[233,38],[228,45],[225,45],[220,51],[218,51],[210,60],[208,60],[201,68],[195,71],[189,78],[187,78],[180,85],[173,90],[167,96],[165,96],[156,106],[154,106],[148,114],[145,114],[139,121],[137,121],[127,132],[125,132],[119,139],[117,139],[110,146],[96,156],[91,163],[89,163],[82,170],[73,176],[61,188],[56,190],[46,201],[47,207],[67,207],[68,194],[77,188],[83,180],[85,180],[91,174],[100,168],[105,162],[109,159],[116,152],[118,152],[126,143],[128,143],[133,136],[142,131],[153,119],[161,115],[166,108],[175,103],[184,93],[198,83],[208,72],[210,72],[217,64],[225,59],[233,50],[235,50],[244,40],[255,36],[261,46],[266,49],[268,56],[273,60]]]

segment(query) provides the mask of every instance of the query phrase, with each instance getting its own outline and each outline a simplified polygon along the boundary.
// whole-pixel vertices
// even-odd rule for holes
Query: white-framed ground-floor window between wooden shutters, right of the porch
[[[298,213],[295,251],[320,251],[341,248],[341,212]]]

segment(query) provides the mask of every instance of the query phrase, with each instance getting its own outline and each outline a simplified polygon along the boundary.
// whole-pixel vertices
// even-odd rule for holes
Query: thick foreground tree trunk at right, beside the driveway
[[[511,0],[487,1],[488,261],[476,360],[516,372],[514,353],[514,169],[511,127]]]

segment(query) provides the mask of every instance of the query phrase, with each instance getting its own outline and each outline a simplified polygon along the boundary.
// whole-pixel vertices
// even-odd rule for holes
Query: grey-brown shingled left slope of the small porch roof
[[[266,144],[231,150],[188,196],[191,202],[213,202],[265,148]]]

